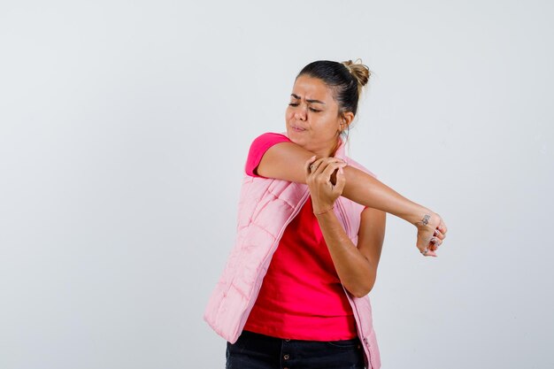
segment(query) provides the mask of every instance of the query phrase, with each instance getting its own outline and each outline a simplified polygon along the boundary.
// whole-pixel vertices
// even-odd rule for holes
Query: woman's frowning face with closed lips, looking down
[[[349,120],[339,116],[339,106],[331,88],[324,81],[307,75],[296,78],[285,119],[290,141],[319,157],[334,154],[338,135],[342,127],[346,128],[341,125]]]

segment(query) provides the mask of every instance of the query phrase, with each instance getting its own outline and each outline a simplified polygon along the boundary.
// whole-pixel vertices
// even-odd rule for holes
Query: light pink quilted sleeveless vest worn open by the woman
[[[341,142],[335,158],[369,173],[344,154]],[[245,175],[238,204],[235,247],[210,297],[204,320],[228,342],[235,343],[256,302],[265,273],[290,221],[302,208],[310,190],[307,185],[289,181]],[[360,213],[364,206],[340,196],[335,202],[335,215],[354,244],[358,244]],[[381,357],[373,330],[372,308],[368,296],[350,295],[350,306],[356,319],[358,337],[363,342],[365,366],[379,369]]]

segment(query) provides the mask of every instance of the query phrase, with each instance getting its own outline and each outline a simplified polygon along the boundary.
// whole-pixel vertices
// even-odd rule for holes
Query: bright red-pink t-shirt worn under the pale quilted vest
[[[257,176],[265,151],[290,142],[280,134],[260,135],[250,147],[245,170]],[[308,200],[285,229],[244,329],[273,337],[336,341],[357,336],[356,320]]]

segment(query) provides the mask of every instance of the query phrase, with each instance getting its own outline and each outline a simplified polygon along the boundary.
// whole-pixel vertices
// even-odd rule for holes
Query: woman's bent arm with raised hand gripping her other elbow
[[[385,235],[386,213],[366,208],[361,214],[358,247],[350,240],[335,212],[331,211],[344,188],[344,165],[329,160],[315,163],[309,160],[305,166],[306,184],[310,188],[313,212],[319,221],[342,286],[353,296],[362,297],[375,284]]]

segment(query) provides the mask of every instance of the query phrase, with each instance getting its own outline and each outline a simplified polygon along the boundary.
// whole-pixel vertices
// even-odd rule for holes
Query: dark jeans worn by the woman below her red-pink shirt
[[[364,369],[358,338],[345,341],[283,340],[242,331],[227,342],[226,369]]]

